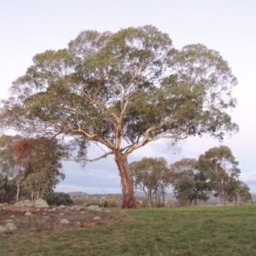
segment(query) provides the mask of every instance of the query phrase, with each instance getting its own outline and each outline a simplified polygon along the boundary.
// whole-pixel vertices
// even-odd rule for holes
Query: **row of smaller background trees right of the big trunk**
[[[170,187],[181,206],[197,206],[211,195],[224,205],[251,201],[250,189],[239,180],[238,162],[226,146],[210,148],[198,160],[183,158],[170,166],[164,158],[143,158],[130,166],[135,189],[145,193],[148,206],[163,205]]]

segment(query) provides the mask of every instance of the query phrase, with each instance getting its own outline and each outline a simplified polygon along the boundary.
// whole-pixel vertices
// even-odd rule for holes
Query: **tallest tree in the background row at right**
[[[210,148],[205,154],[200,155],[198,168],[207,171],[215,195],[226,205],[230,195],[234,195],[236,191],[241,172],[230,148],[227,146]]]

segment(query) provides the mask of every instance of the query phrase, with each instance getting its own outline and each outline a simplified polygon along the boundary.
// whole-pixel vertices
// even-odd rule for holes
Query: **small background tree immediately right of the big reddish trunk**
[[[170,186],[171,175],[164,158],[143,158],[130,164],[136,189],[145,193],[148,206],[160,206],[164,201],[166,188]]]

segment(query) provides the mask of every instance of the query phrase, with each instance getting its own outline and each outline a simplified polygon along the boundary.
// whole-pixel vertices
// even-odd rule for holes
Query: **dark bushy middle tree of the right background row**
[[[183,206],[190,206],[194,201],[207,201],[211,191],[207,172],[197,168],[195,159],[183,158],[170,166],[172,188],[177,200]]]

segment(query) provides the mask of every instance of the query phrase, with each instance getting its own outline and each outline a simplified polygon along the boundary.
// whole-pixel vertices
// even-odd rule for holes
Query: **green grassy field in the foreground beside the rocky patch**
[[[112,223],[0,236],[0,255],[256,255],[256,207],[126,210]]]

